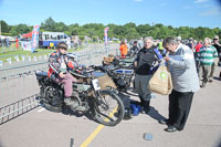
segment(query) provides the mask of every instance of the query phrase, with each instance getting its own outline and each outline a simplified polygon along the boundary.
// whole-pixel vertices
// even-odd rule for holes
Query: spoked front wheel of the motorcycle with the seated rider
[[[94,118],[105,125],[115,126],[124,118],[124,104],[119,96],[112,91],[99,91],[94,101]]]

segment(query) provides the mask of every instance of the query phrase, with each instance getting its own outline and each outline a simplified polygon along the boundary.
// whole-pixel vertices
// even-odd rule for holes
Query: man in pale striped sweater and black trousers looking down
[[[199,78],[194,64],[192,50],[177,42],[173,38],[167,38],[162,45],[169,51],[169,56],[165,60],[168,63],[172,77],[172,92],[169,95],[169,118],[160,120],[167,124],[166,132],[173,133],[185,128],[192,97],[199,90]]]

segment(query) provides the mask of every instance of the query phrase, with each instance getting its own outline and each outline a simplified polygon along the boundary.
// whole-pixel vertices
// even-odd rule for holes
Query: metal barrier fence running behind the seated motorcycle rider
[[[103,56],[108,53],[116,54],[118,45],[114,44],[108,48],[107,52],[104,46],[96,45],[75,52],[75,54],[81,64],[102,64]],[[19,65],[12,63],[9,67],[0,69],[0,124],[38,107],[39,85],[35,72],[48,71],[48,61],[27,62]]]

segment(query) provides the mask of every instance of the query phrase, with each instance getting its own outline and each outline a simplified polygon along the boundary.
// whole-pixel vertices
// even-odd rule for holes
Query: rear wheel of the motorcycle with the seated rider
[[[59,106],[53,105],[53,98],[54,98],[55,94],[57,94],[56,96],[62,97],[61,90],[56,90],[52,86],[48,86],[44,91],[44,96],[43,96],[42,103],[46,109],[54,112],[54,113],[61,113],[62,112],[62,101],[60,102],[61,104]]]

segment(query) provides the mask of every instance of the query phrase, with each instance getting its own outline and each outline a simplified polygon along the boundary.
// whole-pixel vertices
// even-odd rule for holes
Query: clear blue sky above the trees
[[[134,22],[221,28],[221,4],[217,0],[0,0],[0,20],[8,24],[41,24],[49,17],[81,25]]]

